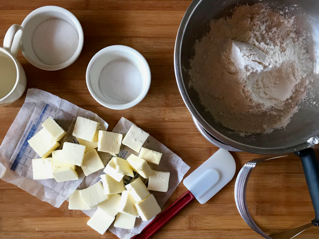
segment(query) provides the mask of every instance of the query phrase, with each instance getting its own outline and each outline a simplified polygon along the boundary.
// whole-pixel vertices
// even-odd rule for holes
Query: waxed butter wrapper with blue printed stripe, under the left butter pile
[[[79,179],[75,181],[58,183],[55,179],[33,180],[32,159],[40,158],[40,156],[35,153],[27,141],[39,132],[42,122],[49,115],[67,132],[59,141],[60,146],[57,149],[62,148],[64,141],[78,143],[72,136],[78,116],[100,122],[102,130],[106,130],[108,124],[97,114],[46,91],[28,90],[25,102],[0,146],[0,178],[17,185],[42,201],[59,207],[81,184],[85,175],[81,167],[77,167]],[[92,174],[91,177],[95,177],[98,173]]]

